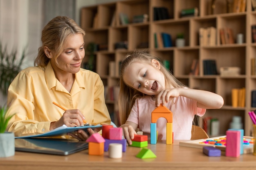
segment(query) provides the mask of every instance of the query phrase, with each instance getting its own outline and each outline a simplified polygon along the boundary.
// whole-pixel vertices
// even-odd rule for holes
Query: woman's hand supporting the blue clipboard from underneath
[[[92,128],[88,128],[87,132],[84,130],[77,130],[74,133],[67,133],[67,135],[70,135],[79,141],[86,141],[92,134],[97,133],[101,130],[101,128],[95,128],[92,130]]]

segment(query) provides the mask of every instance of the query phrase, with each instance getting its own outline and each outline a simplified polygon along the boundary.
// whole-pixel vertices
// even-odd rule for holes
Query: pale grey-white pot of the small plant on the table
[[[11,157],[15,154],[14,133],[0,133],[0,157]]]

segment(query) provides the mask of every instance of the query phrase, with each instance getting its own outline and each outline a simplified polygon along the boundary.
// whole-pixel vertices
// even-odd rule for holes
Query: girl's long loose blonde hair
[[[141,93],[124,83],[124,72],[126,71],[126,68],[133,62],[144,62],[151,65],[151,60],[153,59],[158,60],[161,64],[160,71],[162,71],[164,74],[166,88],[184,87],[184,85],[179,82],[169,70],[166,69],[162,61],[158,57],[151,55],[147,50],[134,51],[128,54],[120,66],[120,91],[118,106],[121,124],[126,122],[135,100],[137,98],[146,96],[146,94]]]

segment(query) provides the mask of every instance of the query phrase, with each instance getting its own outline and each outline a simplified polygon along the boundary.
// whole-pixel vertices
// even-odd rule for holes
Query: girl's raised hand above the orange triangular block
[[[155,106],[160,106],[161,100],[162,100],[162,105],[168,103],[171,101],[174,97],[178,97],[180,95],[180,88],[169,88],[169,89],[164,89],[160,91],[160,93],[157,95],[157,98],[155,100]]]

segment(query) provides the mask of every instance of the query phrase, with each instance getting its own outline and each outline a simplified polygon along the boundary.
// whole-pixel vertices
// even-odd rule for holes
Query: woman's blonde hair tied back
[[[57,61],[57,57],[63,52],[63,46],[67,36],[76,33],[85,35],[85,31],[69,17],[57,16],[49,21],[43,28],[41,36],[42,46],[38,48],[38,55],[34,61],[34,65],[46,66],[50,61],[45,55],[45,46],[55,52],[56,56],[52,57],[55,57],[55,61]]]

